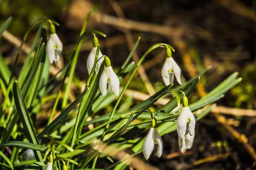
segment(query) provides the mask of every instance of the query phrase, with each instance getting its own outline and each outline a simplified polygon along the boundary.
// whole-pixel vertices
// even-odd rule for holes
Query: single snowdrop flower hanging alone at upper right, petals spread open
[[[173,83],[174,75],[177,79],[177,82],[181,85],[180,80],[180,67],[178,64],[173,60],[173,57],[171,56],[171,49],[166,49],[167,57],[165,59],[161,75],[163,77],[164,83],[166,86]]]

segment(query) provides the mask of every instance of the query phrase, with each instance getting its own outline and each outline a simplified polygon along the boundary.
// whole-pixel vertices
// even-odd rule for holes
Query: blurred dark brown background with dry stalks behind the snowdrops
[[[99,5],[87,29],[107,35],[106,38],[98,37],[101,52],[110,57],[115,68],[123,64],[139,37],[139,46],[132,57],[135,61],[155,43],[170,44],[175,49],[173,57],[182,69],[183,82],[211,66],[189,97],[191,103],[237,72],[243,80],[218,101],[218,107],[211,114],[198,121],[193,148],[181,154],[177,134],[164,135],[163,156],[160,159],[150,157],[149,163],[152,170],[255,169],[256,1],[1,0],[0,4],[0,24],[9,16],[13,17],[8,28],[11,35],[4,34],[0,40],[0,52],[10,67],[19,40],[40,18],[50,18],[60,24],[56,33],[63,42],[63,53],[61,63],[56,67],[67,63],[83,20],[93,7]],[[29,34],[27,47],[35,32]],[[84,39],[76,68],[76,77],[82,81],[88,77],[86,60],[92,48],[91,40],[92,37]],[[21,64],[25,53],[24,50]],[[163,49],[146,57],[129,85],[131,91],[137,92],[136,100],[144,98],[141,93],[152,95],[164,86],[161,69],[165,57]]]

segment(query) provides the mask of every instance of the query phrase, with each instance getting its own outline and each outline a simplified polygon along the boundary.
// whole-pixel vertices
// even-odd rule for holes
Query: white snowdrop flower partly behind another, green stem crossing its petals
[[[93,68],[93,65],[94,65],[94,60],[95,60],[95,57],[96,57],[96,51],[97,51],[97,46],[99,44],[99,41],[98,41],[98,38],[97,37],[94,37],[93,38],[93,41],[92,41],[92,44],[93,44],[93,47],[92,47],[92,50],[90,52],[90,54],[88,55],[88,58],[87,58],[87,63],[86,63],[86,66],[87,66],[87,70],[88,70],[88,73],[90,75],[90,73],[92,72],[92,68]],[[99,51],[99,57],[102,57],[102,53],[101,51]],[[95,72],[96,74],[99,73],[99,68],[101,67],[101,64],[103,62],[104,58],[100,58],[100,60],[97,62],[96,64],[96,68],[95,68]]]

